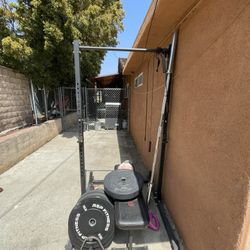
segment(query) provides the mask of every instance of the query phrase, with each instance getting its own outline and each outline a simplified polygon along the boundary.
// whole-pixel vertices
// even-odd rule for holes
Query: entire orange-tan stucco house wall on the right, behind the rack
[[[247,249],[249,24],[248,0],[211,0],[180,26],[163,196],[190,250]],[[130,130],[150,167],[163,76],[153,56],[140,60],[131,76]],[[134,88],[140,72],[144,84]]]

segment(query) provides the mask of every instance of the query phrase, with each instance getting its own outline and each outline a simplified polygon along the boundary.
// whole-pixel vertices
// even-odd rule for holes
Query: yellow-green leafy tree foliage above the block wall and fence
[[[123,29],[119,0],[0,0],[0,64],[38,86],[74,83],[72,42],[115,46]],[[82,79],[100,71],[103,52],[82,52]]]

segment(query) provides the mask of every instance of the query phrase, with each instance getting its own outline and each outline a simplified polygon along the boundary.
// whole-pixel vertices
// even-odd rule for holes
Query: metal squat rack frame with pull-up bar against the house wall
[[[80,75],[80,53],[83,51],[120,51],[120,52],[137,52],[137,53],[155,53],[161,56],[163,73],[165,74],[165,89],[161,107],[160,123],[157,132],[155,152],[152,165],[152,173],[148,186],[147,202],[149,203],[153,188],[154,173],[156,169],[157,156],[161,145],[160,154],[160,169],[158,176],[158,185],[156,190],[156,201],[163,218],[164,226],[170,236],[171,245],[174,249],[178,249],[178,241],[172,233],[171,226],[167,220],[166,215],[163,211],[161,202],[161,184],[162,184],[162,173],[164,167],[164,154],[165,144],[167,143],[167,125],[168,125],[168,106],[170,96],[170,83],[172,80],[172,74],[174,69],[174,61],[177,47],[178,31],[173,34],[171,45],[168,48],[116,48],[116,47],[95,47],[95,46],[82,46],[79,40],[73,42],[74,48],[74,68],[75,68],[75,88],[76,88],[76,106],[77,106],[77,118],[78,118],[78,144],[79,144],[79,158],[80,158],[80,183],[81,183],[81,194],[86,192],[86,171],[85,171],[85,156],[84,156],[84,115],[82,110],[82,88],[81,88],[81,75]],[[162,140],[160,140],[162,137]]]

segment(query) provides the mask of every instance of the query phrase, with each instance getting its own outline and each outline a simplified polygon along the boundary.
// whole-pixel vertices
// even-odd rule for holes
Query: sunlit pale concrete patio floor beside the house
[[[101,170],[94,174],[98,179],[126,159],[147,175],[126,132],[85,132],[85,154],[86,168]],[[0,249],[66,249],[68,215],[80,197],[76,133],[60,134],[0,175],[0,187]],[[150,210],[157,212],[153,202]],[[134,232],[135,245],[170,250],[160,224],[159,232]],[[117,231],[110,249],[124,247],[126,240],[127,232]]]

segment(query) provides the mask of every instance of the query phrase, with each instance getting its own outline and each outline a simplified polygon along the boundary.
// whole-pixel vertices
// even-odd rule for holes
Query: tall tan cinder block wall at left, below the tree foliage
[[[0,132],[32,122],[28,79],[0,66]]]

